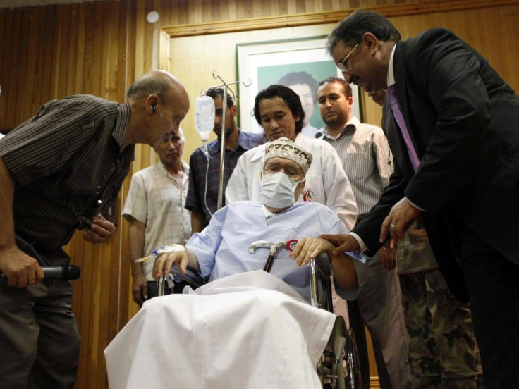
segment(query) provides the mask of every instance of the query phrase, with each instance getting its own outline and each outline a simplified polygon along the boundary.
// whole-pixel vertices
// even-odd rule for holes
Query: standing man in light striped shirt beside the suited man
[[[351,87],[342,78],[319,83],[317,103],[326,125],[317,137],[329,142],[343,163],[359,209],[357,221],[377,204],[392,172],[392,156],[381,128],[360,123],[352,116]],[[366,350],[364,324],[373,340],[381,388],[409,388],[408,345],[396,271],[382,268],[380,257],[367,258],[368,276],[357,300],[348,301],[350,326]],[[359,314],[360,311],[360,314]],[[369,381],[367,353],[363,381]]]

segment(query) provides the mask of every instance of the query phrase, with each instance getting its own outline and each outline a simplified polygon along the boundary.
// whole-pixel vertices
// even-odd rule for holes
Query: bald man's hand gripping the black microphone
[[[29,257],[16,245],[0,250],[0,271],[7,278],[7,285],[24,288],[39,283],[44,277],[36,259]]]

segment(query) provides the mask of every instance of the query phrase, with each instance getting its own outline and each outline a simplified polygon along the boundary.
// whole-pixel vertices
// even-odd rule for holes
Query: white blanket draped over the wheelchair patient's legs
[[[321,388],[335,316],[264,271],[145,302],[106,347],[111,389]]]

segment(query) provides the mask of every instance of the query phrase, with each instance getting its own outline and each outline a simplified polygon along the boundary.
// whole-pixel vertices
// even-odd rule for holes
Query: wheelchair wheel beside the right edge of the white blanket
[[[362,389],[357,346],[352,335],[343,317],[337,316],[328,346],[317,365],[323,388]]]

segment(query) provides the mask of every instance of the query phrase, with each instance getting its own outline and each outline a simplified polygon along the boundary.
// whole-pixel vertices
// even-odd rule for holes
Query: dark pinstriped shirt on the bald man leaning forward
[[[0,141],[16,181],[16,234],[42,255],[116,199],[134,158],[122,149],[130,108],[90,95],[49,101]]]

